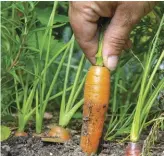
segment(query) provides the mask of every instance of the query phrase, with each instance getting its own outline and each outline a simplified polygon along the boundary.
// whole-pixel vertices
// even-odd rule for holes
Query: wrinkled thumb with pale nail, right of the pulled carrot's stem
[[[103,61],[104,65],[114,70],[118,63],[118,56],[129,42],[129,34],[134,25],[130,20],[130,13],[116,10],[107,30],[104,33]]]

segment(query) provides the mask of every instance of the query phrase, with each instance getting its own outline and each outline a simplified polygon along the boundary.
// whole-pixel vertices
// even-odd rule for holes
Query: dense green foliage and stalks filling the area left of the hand
[[[67,63],[62,55],[67,49],[67,57],[72,36],[67,10],[65,2],[2,3],[2,117],[6,120],[18,112],[19,131],[24,131],[36,110],[36,131],[40,133],[47,103],[53,104],[51,111],[60,107],[60,98],[54,98],[63,90]],[[82,55],[76,43],[74,47],[69,85]]]

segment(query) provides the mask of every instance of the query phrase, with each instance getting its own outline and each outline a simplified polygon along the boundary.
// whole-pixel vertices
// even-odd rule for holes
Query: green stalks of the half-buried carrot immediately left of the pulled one
[[[83,55],[78,65],[77,73],[76,73],[76,76],[72,85],[72,89],[70,91],[68,101],[66,102],[66,89],[67,89],[68,78],[69,78],[70,69],[71,69],[70,63],[71,63],[72,54],[73,54],[73,47],[74,47],[74,37],[73,37],[73,42],[71,44],[70,52],[68,56],[68,64],[66,67],[66,75],[65,75],[65,80],[64,80],[63,95],[62,95],[61,108],[60,108],[59,125],[63,127],[68,125],[70,119],[72,118],[74,113],[78,110],[78,108],[83,104],[83,101],[84,101],[83,98],[77,101],[80,95],[80,92],[83,88],[83,84],[85,80],[85,76],[82,74],[82,70],[85,64],[85,57]]]

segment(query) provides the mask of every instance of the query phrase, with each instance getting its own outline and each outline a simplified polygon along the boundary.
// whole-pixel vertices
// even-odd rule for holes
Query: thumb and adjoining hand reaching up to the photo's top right
[[[129,40],[132,27],[150,12],[155,4],[154,2],[119,2],[104,36],[103,60],[107,68],[110,70],[116,68],[121,51],[132,46]]]

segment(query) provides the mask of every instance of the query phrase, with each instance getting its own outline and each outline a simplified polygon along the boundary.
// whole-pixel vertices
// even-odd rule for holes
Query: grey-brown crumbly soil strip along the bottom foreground
[[[164,139],[156,142],[151,149],[152,156],[164,156]],[[45,143],[36,137],[11,137],[1,143],[2,156],[85,156],[79,147],[80,135],[74,134],[65,144]],[[98,156],[123,156],[125,144],[102,142]]]

